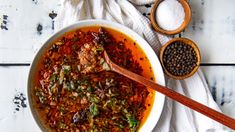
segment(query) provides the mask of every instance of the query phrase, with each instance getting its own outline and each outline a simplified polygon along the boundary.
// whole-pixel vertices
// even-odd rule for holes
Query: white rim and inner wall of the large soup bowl
[[[150,64],[153,69],[154,76],[156,78],[156,82],[161,85],[165,85],[165,79],[162,71],[162,67],[160,65],[159,59],[156,56],[155,52],[153,49],[150,47],[150,45],[142,38],[140,37],[137,33],[134,31],[130,30],[129,28],[114,23],[110,21],[104,21],[104,20],[85,20],[85,21],[79,21],[78,23],[75,23],[73,25],[70,25],[66,28],[63,28],[62,30],[58,31],[56,34],[54,34],[51,38],[49,38],[45,44],[41,47],[41,49],[38,51],[36,54],[30,68],[29,72],[29,77],[28,77],[28,98],[29,98],[29,104],[30,104],[30,109],[31,112],[34,116],[34,119],[36,120],[37,124],[40,126],[42,130],[46,130],[45,126],[39,121],[39,115],[36,112],[36,110],[33,107],[33,94],[32,94],[32,89],[35,86],[35,82],[32,80],[37,71],[37,66],[39,63],[39,59],[42,57],[43,53],[47,50],[48,46],[56,40],[58,37],[62,36],[64,33],[74,30],[74,29],[79,29],[81,27],[87,27],[87,26],[103,26],[103,27],[108,27],[114,30],[117,30],[130,38],[132,38],[139,46],[140,48],[144,51],[145,55],[150,61]],[[156,40],[157,41],[157,40]],[[155,98],[153,102],[152,109],[150,111],[149,116],[147,117],[147,120],[145,123],[142,125],[142,127],[139,129],[140,132],[148,132],[152,131],[153,128],[156,126],[160,115],[162,113],[163,105],[164,105],[164,100],[165,96],[162,95],[159,92],[155,93]]]

